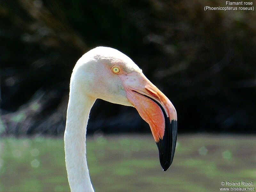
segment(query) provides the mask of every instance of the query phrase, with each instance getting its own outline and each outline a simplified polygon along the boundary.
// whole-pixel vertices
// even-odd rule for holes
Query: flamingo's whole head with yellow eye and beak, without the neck
[[[83,68],[77,71],[81,72],[79,82],[84,82],[81,89],[85,94],[137,109],[150,126],[160,164],[166,171],[172,164],[177,140],[177,113],[171,101],[129,57],[116,49],[92,49],[76,66]]]

